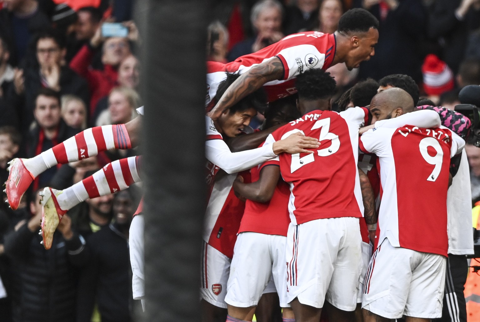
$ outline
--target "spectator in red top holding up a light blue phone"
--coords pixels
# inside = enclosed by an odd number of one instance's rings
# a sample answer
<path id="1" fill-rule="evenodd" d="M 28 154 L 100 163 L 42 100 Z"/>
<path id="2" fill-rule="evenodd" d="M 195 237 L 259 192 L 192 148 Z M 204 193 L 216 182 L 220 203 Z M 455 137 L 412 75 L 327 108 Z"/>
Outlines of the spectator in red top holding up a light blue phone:
<path id="1" fill-rule="evenodd" d="M 138 31 L 133 22 L 126 23 L 129 28 L 127 38 L 111 37 L 104 39 L 101 26 L 98 27 L 90 43 L 84 45 L 70 62 L 70 68 L 88 81 L 91 92 L 90 115 L 95 114 L 98 100 L 117 86 L 118 68 L 123 59 L 131 55 L 128 40 L 137 40 Z M 103 45 L 102 45 L 103 43 Z M 102 63 L 104 69 L 89 68 L 96 50 L 102 45 Z"/>

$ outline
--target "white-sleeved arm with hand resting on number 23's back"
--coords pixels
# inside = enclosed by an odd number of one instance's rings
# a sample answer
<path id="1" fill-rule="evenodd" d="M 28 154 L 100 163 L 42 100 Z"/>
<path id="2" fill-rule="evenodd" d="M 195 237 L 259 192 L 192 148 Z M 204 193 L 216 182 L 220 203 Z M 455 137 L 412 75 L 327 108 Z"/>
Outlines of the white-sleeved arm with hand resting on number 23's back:
<path id="1" fill-rule="evenodd" d="M 317 149 L 319 146 L 318 139 L 305 137 L 301 133 L 292 134 L 288 138 L 274 142 L 273 145 L 264 145 L 257 149 L 241 152 L 232 152 L 224 140 L 213 139 L 205 142 L 205 156 L 208 161 L 231 174 L 251 169 L 283 152 L 290 154 L 313 153 L 313 151 L 305 149 Z"/>

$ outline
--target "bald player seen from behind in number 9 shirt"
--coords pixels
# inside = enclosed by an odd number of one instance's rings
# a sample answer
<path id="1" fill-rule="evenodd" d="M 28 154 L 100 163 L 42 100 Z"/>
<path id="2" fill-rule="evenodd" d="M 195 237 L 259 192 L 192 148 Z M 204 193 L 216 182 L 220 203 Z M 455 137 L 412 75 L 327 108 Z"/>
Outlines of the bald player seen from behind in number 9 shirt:
<path id="1" fill-rule="evenodd" d="M 403 113 L 414 108 L 411 96 L 394 88 L 375 95 L 370 108 L 389 115 L 397 114 L 399 105 Z M 441 316 L 450 158 L 464 144 L 446 127 L 376 127 L 361 136 L 361 150 L 379 158 L 383 191 L 378 247 L 363 290 L 365 321 L 402 315 L 406 321 L 428 321 Z"/>

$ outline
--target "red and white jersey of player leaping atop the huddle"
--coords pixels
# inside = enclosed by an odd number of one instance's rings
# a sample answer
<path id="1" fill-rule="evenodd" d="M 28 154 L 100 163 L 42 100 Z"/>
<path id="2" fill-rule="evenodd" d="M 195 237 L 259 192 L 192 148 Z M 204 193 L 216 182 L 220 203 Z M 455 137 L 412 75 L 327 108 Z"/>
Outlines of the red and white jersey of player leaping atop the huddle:
<path id="1" fill-rule="evenodd" d="M 205 105 L 215 97 L 218 84 L 225 80 L 225 72 L 240 72 L 251 69 L 265 60 L 278 57 L 285 73 L 278 81 L 269 81 L 264 85 L 269 102 L 297 92 L 295 78 L 304 70 L 312 68 L 327 69 L 332 65 L 336 51 L 334 34 L 308 31 L 290 34 L 280 41 L 255 53 L 241 56 L 227 64 L 207 62 L 207 97 Z"/>

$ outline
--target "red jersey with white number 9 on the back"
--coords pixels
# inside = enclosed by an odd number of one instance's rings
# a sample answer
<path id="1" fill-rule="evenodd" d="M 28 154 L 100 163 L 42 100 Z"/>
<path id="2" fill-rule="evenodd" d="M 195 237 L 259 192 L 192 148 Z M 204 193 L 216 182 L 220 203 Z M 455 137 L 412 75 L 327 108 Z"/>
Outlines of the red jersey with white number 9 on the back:
<path id="1" fill-rule="evenodd" d="M 380 127 L 360 137 L 360 149 L 379 158 L 377 243 L 388 238 L 395 247 L 447 255 L 450 158 L 464 145 L 446 127 Z"/>

